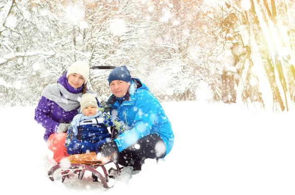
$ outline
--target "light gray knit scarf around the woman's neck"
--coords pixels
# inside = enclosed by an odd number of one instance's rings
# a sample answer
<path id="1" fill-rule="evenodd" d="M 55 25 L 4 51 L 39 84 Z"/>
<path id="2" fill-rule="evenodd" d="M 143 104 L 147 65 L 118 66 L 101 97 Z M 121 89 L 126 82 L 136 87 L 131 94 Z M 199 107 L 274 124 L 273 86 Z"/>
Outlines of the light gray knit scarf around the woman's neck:
<path id="1" fill-rule="evenodd" d="M 96 94 L 93 90 L 88 90 L 87 93 Z M 66 90 L 61 84 L 49 84 L 42 92 L 42 96 L 57 103 L 64 111 L 72 111 L 80 106 L 78 98 L 83 93 L 71 93 Z"/>

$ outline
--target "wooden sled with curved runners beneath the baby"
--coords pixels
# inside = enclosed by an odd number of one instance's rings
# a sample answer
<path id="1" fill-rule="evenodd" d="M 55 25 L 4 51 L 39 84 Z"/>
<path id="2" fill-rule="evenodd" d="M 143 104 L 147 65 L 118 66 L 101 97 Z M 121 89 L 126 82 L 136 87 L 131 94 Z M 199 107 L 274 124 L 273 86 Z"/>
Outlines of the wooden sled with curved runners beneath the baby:
<path id="1" fill-rule="evenodd" d="M 67 157 L 63 160 L 63 163 L 59 163 L 51 167 L 48 171 L 48 176 L 51 181 L 54 181 L 54 176 L 57 175 L 56 171 L 60 170 L 59 176 L 62 176 L 61 182 L 64 181 L 70 173 L 76 173 L 79 179 L 83 178 L 83 175 L 86 170 L 92 173 L 93 179 L 99 180 L 104 188 L 110 188 L 108 185 L 109 178 L 114 178 L 120 173 L 120 167 L 118 163 L 115 163 L 111 160 L 111 156 L 97 158 L 95 152 L 90 152 L 86 154 L 75 154 Z M 109 170 L 106 169 L 105 165 L 113 163 L 116 168 L 111 167 Z M 101 167 L 104 175 L 96 170 L 97 167 Z M 58 171 L 59 172 L 59 171 Z M 110 175 L 112 173 L 112 175 Z"/>

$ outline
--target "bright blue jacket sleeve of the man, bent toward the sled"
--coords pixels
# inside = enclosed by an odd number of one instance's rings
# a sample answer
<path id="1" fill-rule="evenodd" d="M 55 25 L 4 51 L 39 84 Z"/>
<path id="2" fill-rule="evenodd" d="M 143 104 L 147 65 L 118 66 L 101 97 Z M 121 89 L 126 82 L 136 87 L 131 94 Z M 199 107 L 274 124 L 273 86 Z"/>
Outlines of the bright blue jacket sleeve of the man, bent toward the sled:
<path id="1" fill-rule="evenodd" d="M 128 125 L 133 128 L 119 135 L 117 139 L 114 139 L 117 143 L 119 152 L 132 145 L 138 139 L 150 134 L 151 127 L 159 110 L 158 106 L 158 100 L 148 91 L 137 91 L 137 97 L 134 105 L 137 111 L 133 112 L 134 120 L 129 121 L 132 124 L 130 125 L 128 123 Z"/>

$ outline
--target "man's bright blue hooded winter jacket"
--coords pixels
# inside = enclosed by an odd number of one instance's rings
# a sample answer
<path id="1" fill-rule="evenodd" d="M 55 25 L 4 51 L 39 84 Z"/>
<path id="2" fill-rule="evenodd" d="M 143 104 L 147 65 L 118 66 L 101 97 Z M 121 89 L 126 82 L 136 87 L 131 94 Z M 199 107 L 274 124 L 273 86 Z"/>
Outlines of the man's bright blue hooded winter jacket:
<path id="1" fill-rule="evenodd" d="M 149 92 L 148 86 L 137 78 L 132 78 L 129 87 L 130 97 L 126 97 L 121 104 L 113 95 L 108 103 L 112 107 L 111 114 L 117 115 L 131 129 L 118 136 L 114 141 L 121 152 L 128 146 L 150 134 L 158 134 L 166 145 L 166 155 L 174 144 L 174 134 L 171 123 L 167 118 L 157 98 Z M 166 156 L 165 155 L 165 156 Z"/>

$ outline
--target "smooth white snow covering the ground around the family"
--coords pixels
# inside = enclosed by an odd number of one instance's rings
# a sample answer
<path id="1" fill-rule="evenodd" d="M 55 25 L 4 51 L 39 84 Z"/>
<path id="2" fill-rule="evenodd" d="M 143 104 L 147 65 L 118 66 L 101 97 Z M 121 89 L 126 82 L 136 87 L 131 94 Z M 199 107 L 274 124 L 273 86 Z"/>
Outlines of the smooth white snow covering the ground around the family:
<path id="1" fill-rule="evenodd" d="M 239 104 L 205 101 L 162 103 L 175 144 L 158 164 L 129 167 L 104 189 L 90 175 L 52 182 L 51 152 L 34 107 L 0 108 L 3 192 L 42 195 L 294 195 L 294 112 L 247 110 Z M 49 159 L 47 159 L 49 158 Z M 86 195 L 86 194 L 85 194 Z"/>

